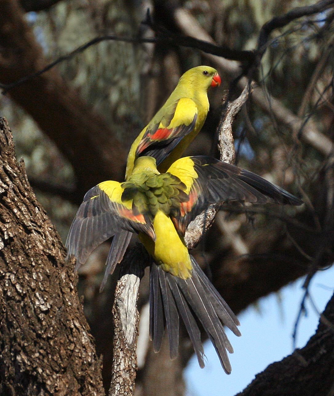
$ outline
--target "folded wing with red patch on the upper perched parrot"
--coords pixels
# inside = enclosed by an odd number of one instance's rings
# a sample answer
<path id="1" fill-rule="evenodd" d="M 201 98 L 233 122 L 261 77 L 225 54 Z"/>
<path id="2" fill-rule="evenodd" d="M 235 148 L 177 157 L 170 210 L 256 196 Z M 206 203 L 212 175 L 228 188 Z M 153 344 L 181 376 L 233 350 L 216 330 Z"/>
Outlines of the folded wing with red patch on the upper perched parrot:
<path id="1" fill-rule="evenodd" d="M 181 98 L 163 106 L 148 124 L 139 142 L 136 156 L 151 156 L 159 165 L 176 145 L 195 128 L 197 106 L 192 99 Z"/>

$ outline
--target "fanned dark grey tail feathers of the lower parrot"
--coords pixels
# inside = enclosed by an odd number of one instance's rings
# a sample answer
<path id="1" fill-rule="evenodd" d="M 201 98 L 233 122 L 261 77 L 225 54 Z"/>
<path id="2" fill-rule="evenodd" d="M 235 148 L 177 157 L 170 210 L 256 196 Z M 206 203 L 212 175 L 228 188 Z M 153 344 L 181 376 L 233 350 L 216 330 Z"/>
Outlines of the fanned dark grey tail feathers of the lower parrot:
<path id="1" fill-rule="evenodd" d="M 227 351 L 232 353 L 233 348 L 226 336 L 224 326 L 229 327 L 235 335 L 239 336 L 241 335 L 237 328 L 239 320 L 194 258 L 191 257 L 191 259 L 192 276 L 186 280 L 165 272 L 154 263 L 151 265 L 150 338 L 153 339 L 154 350 L 160 349 L 166 323 L 170 354 L 172 358 L 176 357 L 180 315 L 194 346 L 199 366 L 204 367 L 201 333 L 195 315 L 211 339 L 223 369 L 226 373 L 230 373 L 231 365 Z"/>

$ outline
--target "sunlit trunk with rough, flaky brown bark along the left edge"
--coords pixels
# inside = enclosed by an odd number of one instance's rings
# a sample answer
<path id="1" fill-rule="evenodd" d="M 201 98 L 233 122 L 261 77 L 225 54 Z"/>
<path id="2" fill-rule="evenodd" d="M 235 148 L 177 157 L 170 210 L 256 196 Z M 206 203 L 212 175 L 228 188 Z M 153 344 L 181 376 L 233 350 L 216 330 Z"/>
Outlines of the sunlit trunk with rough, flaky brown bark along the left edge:
<path id="1" fill-rule="evenodd" d="M 104 395 L 74 263 L 0 119 L 0 394 Z"/>

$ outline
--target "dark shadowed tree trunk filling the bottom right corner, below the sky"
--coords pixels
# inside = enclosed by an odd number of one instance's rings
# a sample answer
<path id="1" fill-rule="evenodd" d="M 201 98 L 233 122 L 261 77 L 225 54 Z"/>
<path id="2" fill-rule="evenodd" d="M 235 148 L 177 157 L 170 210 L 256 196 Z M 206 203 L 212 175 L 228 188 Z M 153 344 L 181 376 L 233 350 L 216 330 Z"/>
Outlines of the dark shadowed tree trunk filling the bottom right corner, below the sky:
<path id="1" fill-rule="evenodd" d="M 334 295 L 318 329 L 302 349 L 270 364 L 238 396 L 332 396 L 334 394 Z"/>

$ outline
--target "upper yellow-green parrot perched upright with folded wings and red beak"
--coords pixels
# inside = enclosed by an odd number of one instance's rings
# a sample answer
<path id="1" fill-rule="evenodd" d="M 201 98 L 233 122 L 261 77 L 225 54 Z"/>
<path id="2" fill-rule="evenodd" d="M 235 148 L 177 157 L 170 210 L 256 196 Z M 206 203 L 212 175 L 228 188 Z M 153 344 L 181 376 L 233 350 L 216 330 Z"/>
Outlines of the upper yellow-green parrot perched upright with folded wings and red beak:
<path id="1" fill-rule="evenodd" d="M 125 179 L 139 156 L 156 158 L 159 171 L 165 172 L 184 152 L 201 130 L 209 111 L 207 91 L 219 86 L 216 69 L 197 66 L 186 71 L 166 103 L 140 132 L 127 157 Z M 131 233 L 116 233 L 107 263 L 114 267 L 120 263 L 131 240 Z"/>

